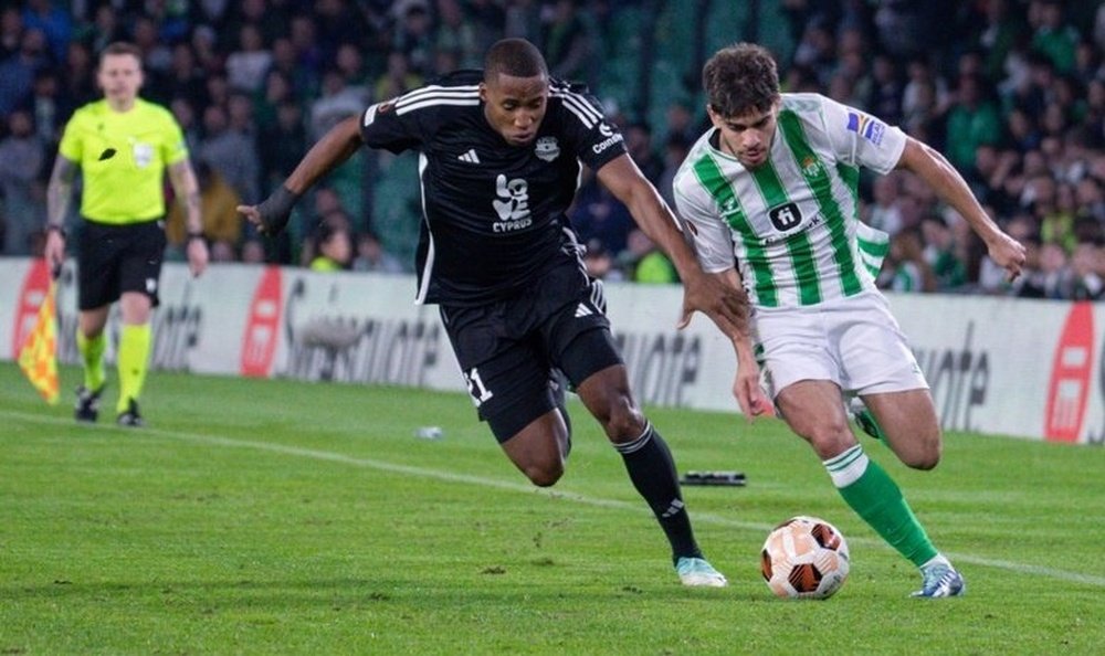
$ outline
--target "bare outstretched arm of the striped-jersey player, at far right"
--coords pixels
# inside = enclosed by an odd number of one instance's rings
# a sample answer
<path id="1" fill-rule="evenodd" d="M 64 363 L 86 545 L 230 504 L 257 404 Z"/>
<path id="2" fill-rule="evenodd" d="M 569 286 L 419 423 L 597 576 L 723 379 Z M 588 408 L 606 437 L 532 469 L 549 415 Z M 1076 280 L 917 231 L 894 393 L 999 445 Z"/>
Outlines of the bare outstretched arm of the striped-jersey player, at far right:
<path id="1" fill-rule="evenodd" d="M 1024 264 L 1024 246 L 1006 234 L 987 215 L 967 181 L 943 155 L 913 137 L 906 137 L 905 149 L 896 168 L 916 174 L 940 200 L 959 212 L 986 243 L 990 257 L 1008 272 L 1010 281 L 1020 275 Z"/>

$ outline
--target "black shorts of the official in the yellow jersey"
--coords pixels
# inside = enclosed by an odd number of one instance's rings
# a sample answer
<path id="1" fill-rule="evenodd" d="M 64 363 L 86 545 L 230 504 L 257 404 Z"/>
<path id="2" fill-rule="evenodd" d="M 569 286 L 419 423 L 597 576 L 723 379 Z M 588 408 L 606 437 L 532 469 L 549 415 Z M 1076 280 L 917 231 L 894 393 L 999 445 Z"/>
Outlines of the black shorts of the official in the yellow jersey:
<path id="1" fill-rule="evenodd" d="M 103 307 L 124 292 L 146 294 L 157 307 L 165 243 L 161 221 L 110 225 L 85 220 L 77 236 L 77 307 Z"/>

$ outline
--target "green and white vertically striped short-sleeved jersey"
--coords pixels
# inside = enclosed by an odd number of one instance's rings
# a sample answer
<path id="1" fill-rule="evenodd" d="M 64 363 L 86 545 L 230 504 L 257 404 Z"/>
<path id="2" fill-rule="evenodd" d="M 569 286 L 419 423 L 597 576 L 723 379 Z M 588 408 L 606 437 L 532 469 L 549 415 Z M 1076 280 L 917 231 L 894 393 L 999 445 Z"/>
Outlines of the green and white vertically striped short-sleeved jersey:
<path id="1" fill-rule="evenodd" d="M 888 239 L 859 219 L 860 167 L 888 173 L 905 134 L 820 94 L 783 94 L 768 160 L 746 169 L 712 128 L 674 180 L 703 269 L 734 266 L 755 305 L 797 307 L 873 289 Z"/>

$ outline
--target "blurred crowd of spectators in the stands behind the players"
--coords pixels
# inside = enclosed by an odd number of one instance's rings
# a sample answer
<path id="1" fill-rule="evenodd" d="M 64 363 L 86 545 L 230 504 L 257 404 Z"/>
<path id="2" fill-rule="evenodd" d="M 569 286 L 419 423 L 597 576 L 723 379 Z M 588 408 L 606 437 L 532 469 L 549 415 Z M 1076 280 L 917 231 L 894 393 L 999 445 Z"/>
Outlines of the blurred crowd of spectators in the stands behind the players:
<path id="1" fill-rule="evenodd" d="M 116 40 L 145 53 L 143 96 L 185 130 L 215 262 L 317 271 L 410 271 L 419 211 L 409 156 L 361 150 L 304 199 L 292 230 L 263 240 L 234 212 L 291 172 L 336 121 L 524 36 L 552 74 L 604 100 L 645 176 L 671 180 L 705 129 L 694 62 L 661 112 L 608 91 L 628 50 L 622 17 L 724 11 L 646 0 L 27 0 L 0 14 L 3 253 L 35 254 L 45 184 L 65 121 L 99 97 L 96 57 Z M 946 154 L 993 218 L 1029 246 L 1013 284 L 965 222 L 905 173 L 861 179 L 863 219 L 892 236 L 878 284 L 913 292 L 1095 299 L 1105 294 L 1105 7 L 1060 0 L 760 0 L 778 31 L 788 92 L 865 109 Z M 767 11 L 774 9 L 775 11 Z M 643 24 L 655 27 L 655 22 Z M 775 32 L 771 32 L 775 34 Z M 698 34 L 701 40 L 705 34 Z M 728 41 L 748 38 L 734 34 Z M 774 39 L 779 42 L 779 39 Z M 727 42 L 709 43 L 706 56 Z M 691 44 L 686 47 L 690 50 Z M 778 50 L 778 49 L 777 49 Z M 657 56 L 648 49 L 633 57 Z M 643 66 L 643 71 L 651 67 Z M 650 117 L 662 116 L 657 121 Z M 406 159 L 404 159 L 406 158 Z M 167 193 L 169 191 L 167 190 Z M 673 204 L 674 203 L 671 203 Z M 597 276 L 676 282 L 628 210 L 585 176 L 571 220 Z M 169 257 L 185 242 L 170 212 Z"/>

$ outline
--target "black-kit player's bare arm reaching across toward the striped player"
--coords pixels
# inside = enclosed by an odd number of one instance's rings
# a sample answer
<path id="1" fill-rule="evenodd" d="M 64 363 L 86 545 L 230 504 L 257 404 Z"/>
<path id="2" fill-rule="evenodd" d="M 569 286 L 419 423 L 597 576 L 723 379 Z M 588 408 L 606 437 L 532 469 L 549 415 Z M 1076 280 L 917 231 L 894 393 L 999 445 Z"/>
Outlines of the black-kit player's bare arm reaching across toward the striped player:
<path id="1" fill-rule="evenodd" d="M 748 297 L 739 287 L 727 285 L 703 272 L 691 246 L 683 239 L 675 215 L 660 192 L 636 168 L 629 155 L 620 155 L 599 168 L 599 181 L 620 200 L 649 239 L 671 258 L 683 282 L 683 315 L 678 327 L 691 322 L 695 310 L 705 313 L 730 339 L 747 335 Z"/>

